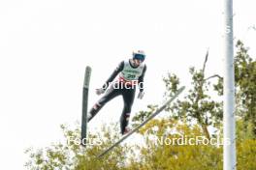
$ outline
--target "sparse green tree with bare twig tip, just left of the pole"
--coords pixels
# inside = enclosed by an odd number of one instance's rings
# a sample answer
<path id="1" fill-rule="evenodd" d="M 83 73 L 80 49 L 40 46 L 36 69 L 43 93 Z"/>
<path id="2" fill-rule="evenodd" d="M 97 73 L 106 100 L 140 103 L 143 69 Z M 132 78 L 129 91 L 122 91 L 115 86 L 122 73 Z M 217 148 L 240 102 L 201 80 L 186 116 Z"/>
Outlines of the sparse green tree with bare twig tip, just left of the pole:
<path id="1" fill-rule="evenodd" d="M 195 68 L 190 68 L 191 74 L 191 89 L 185 95 L 184 99 L 177 101 L 167 108 L 171 119 L 183 121 L 184 123 L 197 122 L 204 130 L 205 135 L 210 138 L 208 126 L 219 127 L 222 120 L 222 103 L 211 99 L 208 91 L 210 89 L 210 79 L 214 77 L 221 78 L 219 75 L 211 75 L 206 77 L 206 65 L 208 61 L 208 53 L 203 65 L 203 69 L 197 71 Z M 166 86 L 166 98 L 173 96 L 179 86 L 179 78 L 176 74 L 168 73 L 167 77 L 163 78 Z M 211 92 L 212 93 L 212 92 Z M 149 105 L 150 113 L 152 113 L 156 105 Z M 148 114 L 140 112 L 134 118 L 134 121 L 143 121 Z"/>

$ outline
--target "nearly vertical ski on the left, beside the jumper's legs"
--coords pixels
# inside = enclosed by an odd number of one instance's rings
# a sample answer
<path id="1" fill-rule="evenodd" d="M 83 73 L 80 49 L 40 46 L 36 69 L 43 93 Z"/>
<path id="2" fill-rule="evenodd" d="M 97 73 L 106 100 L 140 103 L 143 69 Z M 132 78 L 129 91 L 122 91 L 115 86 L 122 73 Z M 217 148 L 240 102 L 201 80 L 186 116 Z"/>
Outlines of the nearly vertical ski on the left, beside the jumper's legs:
<path id="1" fill-rule="evenodd" d="M 87 137 L 87 105 L 88 105 L 88 92 L 90 83 L 91 68 L 87 66 L 85 68 L 83 87 L 82 87 L 82 113 L 81 113 L 81 131 L 80 139 L 81 145 L 86 146 Z"/>

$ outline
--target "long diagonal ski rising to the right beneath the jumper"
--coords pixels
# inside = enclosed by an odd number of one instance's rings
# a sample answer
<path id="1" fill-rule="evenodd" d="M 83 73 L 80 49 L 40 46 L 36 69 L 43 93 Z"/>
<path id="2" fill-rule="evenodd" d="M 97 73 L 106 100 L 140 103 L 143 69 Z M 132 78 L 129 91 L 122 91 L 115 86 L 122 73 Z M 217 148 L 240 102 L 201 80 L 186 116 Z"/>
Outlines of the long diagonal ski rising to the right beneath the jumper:
<path id="1" fill-rule="evenodd" d="M 98 157 L 105 156 L 108 154 L 114 147 L 116 147 L 118 144 L 120 144 L 122 141 L 124 141 L 127 137 L 129 137 L 131 134 L 136 132 L 139 128 L 142 128 L 148 121 L 150 121 L 152 118 L 154 118 L 156 115 L 158 115 L 160 112 L 162 112 L 174 99 L 178 97 L 179 94 L 185 89 L 185 86 L 182 86 L 176 91 L 176 94 L 171 98 L 168 99 L 161 107 L 159 107 L 154 113 L 152 113 L 142 124 L 137 126 L 136 128 L 129 131 L 127 134 L 123 135 L 117 142 L 115 142 L 110 148 L 105 150 L 103 153 L 98 155 Z"/>

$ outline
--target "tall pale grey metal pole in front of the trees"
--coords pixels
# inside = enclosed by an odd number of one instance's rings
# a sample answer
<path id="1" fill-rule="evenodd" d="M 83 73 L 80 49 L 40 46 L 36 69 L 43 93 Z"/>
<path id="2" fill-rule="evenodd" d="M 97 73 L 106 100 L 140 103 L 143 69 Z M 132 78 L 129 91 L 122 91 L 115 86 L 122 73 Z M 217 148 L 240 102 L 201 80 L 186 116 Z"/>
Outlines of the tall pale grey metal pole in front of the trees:
<path id="1" fill-rule="evenodd" d="M 235 75 L 233 42 L 233 0 L 224 0 L 224 150 L 223 169 L 236 170 Z"/>

